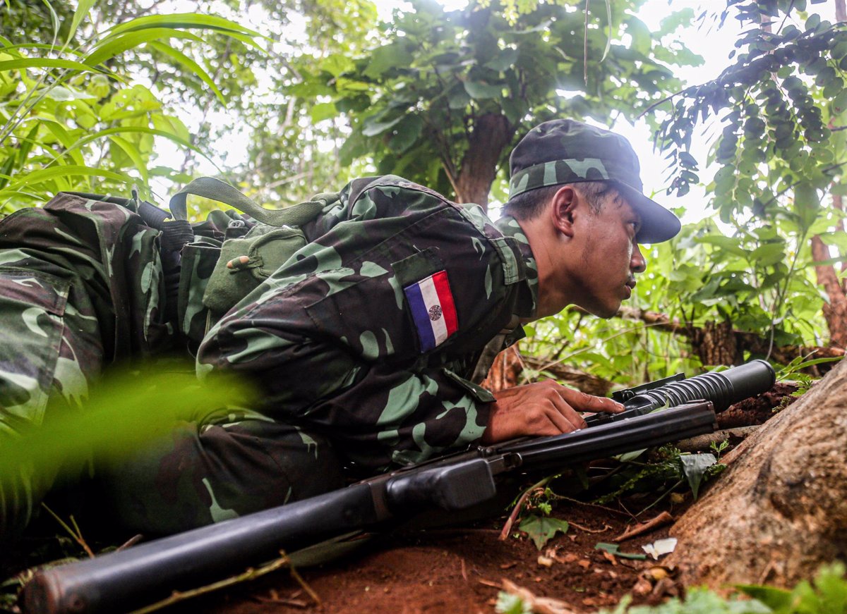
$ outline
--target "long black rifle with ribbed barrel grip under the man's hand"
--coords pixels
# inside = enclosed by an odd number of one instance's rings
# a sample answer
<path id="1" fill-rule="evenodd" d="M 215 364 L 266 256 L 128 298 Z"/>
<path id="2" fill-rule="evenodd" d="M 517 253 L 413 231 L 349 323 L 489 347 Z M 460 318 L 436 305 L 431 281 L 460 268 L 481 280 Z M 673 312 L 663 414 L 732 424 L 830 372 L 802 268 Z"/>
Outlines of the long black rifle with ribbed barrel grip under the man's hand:
<path id="1" fill-rule="evenodd" d="M 561 469 L 712 432 L 716 410 L 769 390 L 775 379 L 771 365 L 754 360 L 721 373 L 687 380 L 673 376 L 618 392 L 626 410 L 592 416 L 586 420 L 590 428 L 474 447 L 300 502 L 36 573 L 24 588 L 24 609 L 127 611 L 173 590 L 226 578 L 280 551 L 351 531 L 390 528 L 428 509 L 466 510 L 495 497 L 497 476 Z"/>

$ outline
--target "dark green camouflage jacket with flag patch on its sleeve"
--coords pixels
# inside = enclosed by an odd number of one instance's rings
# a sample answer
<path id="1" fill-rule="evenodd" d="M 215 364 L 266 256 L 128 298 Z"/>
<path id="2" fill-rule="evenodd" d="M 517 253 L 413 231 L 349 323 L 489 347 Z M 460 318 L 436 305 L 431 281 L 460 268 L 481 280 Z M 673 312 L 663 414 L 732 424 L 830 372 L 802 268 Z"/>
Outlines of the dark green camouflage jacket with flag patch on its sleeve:
<path id="1" fill-rule="evenodd" d="M 264 416 L 329 436 L 367 469 L 478 441 L 494 397 L 472 380 L 535 309 L 518 222 L 386 176 L 352 181 L 304 232 L 310 243 L 208 332 L 198 371 L 250 374 Z"/>

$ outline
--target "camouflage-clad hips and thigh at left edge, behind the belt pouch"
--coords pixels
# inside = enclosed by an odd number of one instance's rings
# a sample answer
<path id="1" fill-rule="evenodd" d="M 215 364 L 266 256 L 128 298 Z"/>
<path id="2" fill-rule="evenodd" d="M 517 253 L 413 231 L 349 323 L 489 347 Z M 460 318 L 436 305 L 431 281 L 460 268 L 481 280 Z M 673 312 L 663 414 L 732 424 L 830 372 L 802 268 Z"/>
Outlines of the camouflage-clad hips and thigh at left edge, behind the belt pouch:
<path id="1" fill-rule="evenodd" d="M 79 411 L 105 365 L 169 337 L 158 231 L 125 207 L 61 194 L 0 222 L 0 437 Z M 59 471 L 0 484 L 0 536 L 29 522 Z"/>

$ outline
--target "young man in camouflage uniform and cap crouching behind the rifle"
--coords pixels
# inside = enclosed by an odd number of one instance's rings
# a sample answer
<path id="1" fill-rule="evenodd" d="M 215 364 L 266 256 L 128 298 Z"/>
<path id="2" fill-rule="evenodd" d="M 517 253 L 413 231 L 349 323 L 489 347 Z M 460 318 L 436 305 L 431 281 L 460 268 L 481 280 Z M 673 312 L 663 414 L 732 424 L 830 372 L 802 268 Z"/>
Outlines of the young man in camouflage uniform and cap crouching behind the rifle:
<path id="1" fill-rule="evenodd" d="M 568 304 L 613 315 L 645 269 L 638 243 L 672 238 L 678 219 L 641 194 L 627 140 L 584 123 L 532 129 L 512 152 L 511 176 L 496 222 L 478 206 L 401 178 L 348 184 L 340 201 L 302 227 L 309 243 L 199 348 L 198 374 L 243 374 L 262 391 L 261 406 L 176 424 L 125 462 L 98 469 L 98 501 L 110 502 L 113 518 L 128 528 L 173 533 L 313 496 L 351 474 L 478 442 L 578 429 L 580 411 L 620 411 L 611 399 L 553 382 L 492 394 L 479 381 L 494 356 L 523 336 L 522 323 Z M 4 332 L 8 348 L 19 351 L 0 361 L 0 384 L 8 383 L 0 386 L 0 431 L 38 424 L 51 391 L 76 408 L 103 363 L 161 345 L 156 233 L 129 213 L 74 199 L 53 206 L 61 222 L 80 220 L 79 228 L 62 227 L 66 248 L 47 249 L 56 237 L 42 210 L 18 216 L 34 228 L 33 241 L 44 242 L 42 251 L 0 243 L 0 277 L 29 293 L 5 300 L 43 304 Z M 74 243 L 89 235 L 88 244 Z M 122 249 L 97 247 L 107 239 Z M 102 261 L 106 253 L 127 262 L 127 271 L 147 263 L 149 274 L 138 277 L 147 285 L 117 287 L 122 271 Z M 36 269 L 42 272 L 33 277 Z M 110 311 L 116 296 L 126 304 Z M 138 321 L 119 316 L 127 313 Z M 49 351 L 48 323 L 55 333 Z M 21 357 L 26 365 L 15 364 Z M 23 476 L 0 488 L 0 535 L 28 521 L 51 480 Z"/>

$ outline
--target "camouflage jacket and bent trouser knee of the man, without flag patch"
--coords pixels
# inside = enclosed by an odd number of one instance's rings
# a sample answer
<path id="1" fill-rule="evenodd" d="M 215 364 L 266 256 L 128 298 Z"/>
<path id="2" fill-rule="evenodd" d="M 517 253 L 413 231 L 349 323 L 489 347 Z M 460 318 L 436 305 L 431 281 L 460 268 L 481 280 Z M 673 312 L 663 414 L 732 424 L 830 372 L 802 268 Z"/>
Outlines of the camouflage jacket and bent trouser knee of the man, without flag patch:
<path id="1" fill-rule="evenodd" d="M 482 436 L 494 397 L 472 380 L 534 313 L 537 273 L 518 223 L 389 176 L 348 184 L 303 230 L 310 243 L 197 357 L 201 374 L 246 372 L 262 407 L 180 427 L 115 472 L 110 497 L 133 529 L 280 505 L 342 485 L 342 464 L 370 474 Z M 440 271 L 457 328 L 427 349 L 407 288 Z"/>

